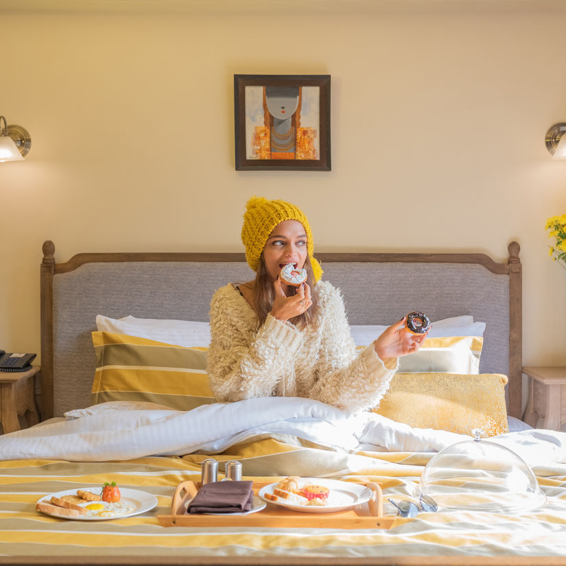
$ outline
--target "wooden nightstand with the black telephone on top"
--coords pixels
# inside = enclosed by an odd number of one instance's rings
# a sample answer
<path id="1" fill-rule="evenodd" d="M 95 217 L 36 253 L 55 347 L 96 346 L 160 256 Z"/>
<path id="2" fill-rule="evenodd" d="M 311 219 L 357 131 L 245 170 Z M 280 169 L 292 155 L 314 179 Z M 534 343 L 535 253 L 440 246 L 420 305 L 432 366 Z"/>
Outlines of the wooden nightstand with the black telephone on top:
<path id="1" fill-rule="evenodd" d="M 21 429 L 18 415 L 24 417 L 28 427 L 39 422 L 34 388 L 38 372 L 38 366 L 21 372 L 0 371 L 0 423 L 4 434 Z"/>

